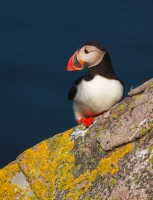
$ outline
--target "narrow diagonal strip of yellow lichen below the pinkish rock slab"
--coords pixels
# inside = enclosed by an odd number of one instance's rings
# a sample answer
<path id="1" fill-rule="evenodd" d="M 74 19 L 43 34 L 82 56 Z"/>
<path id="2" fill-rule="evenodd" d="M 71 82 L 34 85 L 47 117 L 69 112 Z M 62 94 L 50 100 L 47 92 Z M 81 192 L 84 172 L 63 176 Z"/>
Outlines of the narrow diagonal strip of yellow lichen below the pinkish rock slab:
<path id="1" fill-rule="evenodd" d="M 93 171 L 86 171 L 84 174 L 73 180 L 70 186 L 70 191 L 66 195 L 66 199 L 77 200 L 83 193 L 88 191 L 92 182 L 98 175 L 113 175 L 118 172 L 118 161 L 132 150 L 132 144 L 127 144 L 116 151 L 112 152 L 107 158 L 103 158 L 99 165 Z M 83 184 L 85 182 L 85 184 Z"/>

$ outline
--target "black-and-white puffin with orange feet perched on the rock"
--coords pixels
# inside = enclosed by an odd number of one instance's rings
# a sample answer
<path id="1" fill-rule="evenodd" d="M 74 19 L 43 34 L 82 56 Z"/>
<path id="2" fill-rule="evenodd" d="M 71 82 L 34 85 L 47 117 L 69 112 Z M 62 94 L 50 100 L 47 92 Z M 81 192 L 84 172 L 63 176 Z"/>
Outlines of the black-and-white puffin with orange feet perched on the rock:
<path id="1" fill-rule="evenodd" d="M 68 92 L 73 101 L 78 124 L 89 127 L 97 115 L 103 114 L 121 100 L 124 84 L 116 76 L 108 51 L 97 42 L 83 44 L 71 56 L 67 71 L 87 69 Z"/>

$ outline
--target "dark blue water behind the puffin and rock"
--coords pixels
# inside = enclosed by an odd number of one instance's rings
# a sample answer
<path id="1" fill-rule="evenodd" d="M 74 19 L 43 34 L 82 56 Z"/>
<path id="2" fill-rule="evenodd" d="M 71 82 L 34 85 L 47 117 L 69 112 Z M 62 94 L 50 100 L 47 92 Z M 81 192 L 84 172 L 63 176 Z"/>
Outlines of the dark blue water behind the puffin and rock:
<path id="1" fill-rule="evenodd" d="M 71 54 L 96 40 L 126 92 L 153 76 L 153 2 L 0 1 L 0 167 L 73 127 Z"/>

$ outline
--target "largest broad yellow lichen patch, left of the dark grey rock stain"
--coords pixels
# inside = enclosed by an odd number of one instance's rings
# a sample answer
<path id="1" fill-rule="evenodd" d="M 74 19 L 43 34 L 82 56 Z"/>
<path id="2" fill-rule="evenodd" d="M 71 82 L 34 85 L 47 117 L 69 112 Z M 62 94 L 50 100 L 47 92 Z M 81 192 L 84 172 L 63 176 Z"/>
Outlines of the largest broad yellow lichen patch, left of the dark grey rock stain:
<path id="1" fill-rule="evenodd" d="M 53 137 L 50 144 L 43 141 L 24 152 L 20 166 L 32 182 L 38 198 L 54 199 L 56 186 L 59 190 L 70 188 L 74 167 L 71 153 L 74 141 L 69 138 L 71 132 L 72 129 Z"/>

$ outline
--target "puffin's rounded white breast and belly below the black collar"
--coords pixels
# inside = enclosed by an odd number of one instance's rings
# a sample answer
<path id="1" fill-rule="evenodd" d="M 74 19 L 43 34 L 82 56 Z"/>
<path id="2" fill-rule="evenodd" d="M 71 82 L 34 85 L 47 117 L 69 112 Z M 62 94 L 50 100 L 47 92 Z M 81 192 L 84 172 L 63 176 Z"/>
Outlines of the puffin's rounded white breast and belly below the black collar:
<path id="1" fill-rule="evenodd" d="M 83 115 L 92 116 L 110 109 L 122 95 L 120 81 L 96 75 L 93 80 L 82 80 L 78 85 L 74 104 Z"/>

